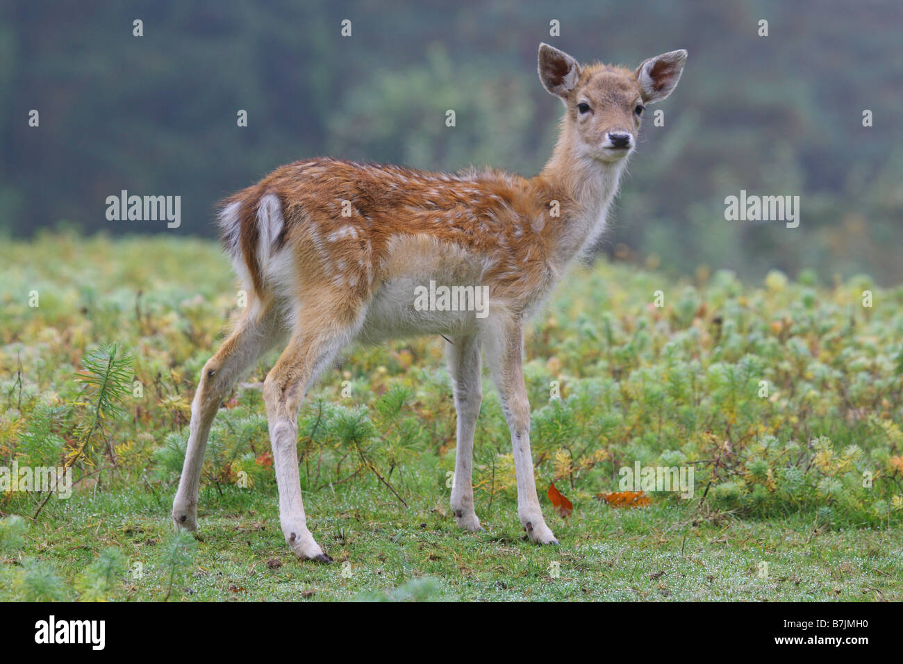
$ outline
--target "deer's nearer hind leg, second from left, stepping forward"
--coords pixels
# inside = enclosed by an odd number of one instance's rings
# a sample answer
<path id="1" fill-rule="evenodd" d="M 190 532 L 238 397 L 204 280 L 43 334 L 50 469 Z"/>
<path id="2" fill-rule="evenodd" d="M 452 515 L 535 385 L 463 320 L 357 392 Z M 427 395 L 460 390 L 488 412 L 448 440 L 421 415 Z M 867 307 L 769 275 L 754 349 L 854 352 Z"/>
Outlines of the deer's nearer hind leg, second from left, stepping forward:
<path id="1" fill-rule="evenodd" d="M 285 541 L 299 558 L 331 562 L 307 528 L 298 472 L 298 411 L 308 388 L 360 328 L 359 316 L 335 307 L 336 298 L 309 296 L 312 307 L 302 307 L 301 322 L 264 383 L 266 416 L 276 482 L 279 521 Z M 316 304 L 314 304 L 316 303 Z"/>

